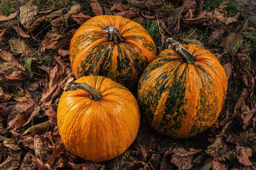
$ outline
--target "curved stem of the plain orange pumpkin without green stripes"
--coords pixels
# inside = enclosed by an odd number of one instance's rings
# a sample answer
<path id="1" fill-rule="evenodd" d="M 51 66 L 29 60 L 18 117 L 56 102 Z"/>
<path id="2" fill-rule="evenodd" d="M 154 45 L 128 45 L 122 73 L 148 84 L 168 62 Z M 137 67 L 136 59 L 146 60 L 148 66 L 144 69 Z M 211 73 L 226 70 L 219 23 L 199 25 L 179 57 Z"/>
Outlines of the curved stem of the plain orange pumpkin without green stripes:
<path id="1" fill-rule="evenodd" d="M 64 89 L 64 91 L 76 91 L 78 88 L 89 93 L 89 96 L 91 97 L 91 99 L 93 99 L 95 101 L 98 101 L 102 98 L 101 93 L 98 92 L 92 86 L 89 86 L 88 84 L 74 82 L 74 77 L 70 77 L 67 80 L 67 83 L 65 84 L 63 89 Z"/>

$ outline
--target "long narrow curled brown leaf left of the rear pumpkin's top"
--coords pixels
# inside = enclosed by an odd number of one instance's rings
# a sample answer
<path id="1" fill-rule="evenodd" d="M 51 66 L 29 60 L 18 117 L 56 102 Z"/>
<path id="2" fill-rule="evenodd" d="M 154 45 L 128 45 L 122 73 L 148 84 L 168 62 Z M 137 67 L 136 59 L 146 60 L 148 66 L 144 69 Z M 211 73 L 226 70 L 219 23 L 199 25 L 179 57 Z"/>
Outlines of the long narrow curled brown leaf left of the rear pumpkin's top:
<path id="1" fill-rule="evenodd" d="M 46 20 L 53 20 L 54 18 L 60 17 L 63 13 L 64 9 L 54 11 L 49 15 L 45 15 L 42 18 L 37 18 L 36 21 L 27 29 L 27 32 L 34 31 L 40 24 L 45 22 Z"/>

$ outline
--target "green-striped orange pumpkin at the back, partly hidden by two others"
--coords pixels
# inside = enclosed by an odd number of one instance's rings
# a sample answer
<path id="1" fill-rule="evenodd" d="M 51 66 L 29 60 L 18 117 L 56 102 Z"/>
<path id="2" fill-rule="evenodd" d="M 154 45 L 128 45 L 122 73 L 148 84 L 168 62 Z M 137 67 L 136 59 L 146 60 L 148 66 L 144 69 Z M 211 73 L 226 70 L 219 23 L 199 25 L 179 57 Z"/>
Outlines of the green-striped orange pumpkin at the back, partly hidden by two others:
<path id="1" fill-rule="evenodd" d="M 133 90 L 155 58 L 155 50 L 152 38 L 140 24 L 121 16 L 99 15 L 74 34 L 70 62 L 76 79 L 101 75 Z"/>

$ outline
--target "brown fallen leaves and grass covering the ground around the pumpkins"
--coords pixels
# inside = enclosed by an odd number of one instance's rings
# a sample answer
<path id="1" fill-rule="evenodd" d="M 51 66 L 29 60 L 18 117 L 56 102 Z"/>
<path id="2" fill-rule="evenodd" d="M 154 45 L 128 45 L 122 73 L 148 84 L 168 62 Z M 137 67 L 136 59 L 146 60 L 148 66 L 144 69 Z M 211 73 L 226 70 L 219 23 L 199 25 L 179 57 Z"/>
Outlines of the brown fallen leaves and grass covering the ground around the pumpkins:
<path id="1" fill-rule="evenodd" d="M 0 169 L 255 170 L 255 7 L 253 0 L 2 0 Z M 73 76 L 70 40 L 81 24 L 103 14 L 139 22 L 157 54 L 172 37 L 216 55 L 229 85 L 209 130 L 173 139 L 150 129 L 142 117 L 134 143 L 116 159 L 87 162 L 65 149 L 56 108 Z"/>

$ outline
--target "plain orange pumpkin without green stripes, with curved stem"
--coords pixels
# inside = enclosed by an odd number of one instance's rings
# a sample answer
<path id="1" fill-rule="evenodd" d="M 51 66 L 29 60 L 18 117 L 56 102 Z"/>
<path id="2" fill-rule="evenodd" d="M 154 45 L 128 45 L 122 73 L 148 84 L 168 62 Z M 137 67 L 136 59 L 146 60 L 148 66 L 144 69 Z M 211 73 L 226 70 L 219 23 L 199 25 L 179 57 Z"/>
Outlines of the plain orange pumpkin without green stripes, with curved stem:
<path id="1" fill-rule="evenodd" d="M 66 84 L 57 109 L 63 144 L 88 161 L 121 155 L 139 130 L 137 100 L 126 87 L 103 76 L 73 79 Z"/>

